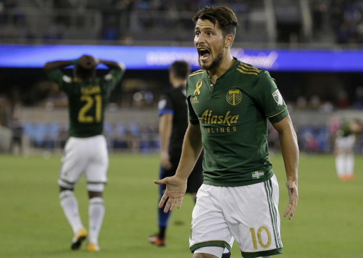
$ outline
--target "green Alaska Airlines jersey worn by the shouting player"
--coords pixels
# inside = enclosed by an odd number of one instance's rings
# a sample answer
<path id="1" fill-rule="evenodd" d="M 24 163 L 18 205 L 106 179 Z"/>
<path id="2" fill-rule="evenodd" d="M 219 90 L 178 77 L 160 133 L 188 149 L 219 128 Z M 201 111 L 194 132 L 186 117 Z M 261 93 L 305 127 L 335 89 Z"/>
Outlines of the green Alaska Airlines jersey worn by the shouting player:
<path id="1" fill-rule="evenodd" d="M 239 60 L 213 84 L 205 70 L 187 80 L 189 121 L 200 124 L 204 183 L 245 186 L 273 175 L 267 146 L 267 120 L 288 111 L 275 80 Z"/>

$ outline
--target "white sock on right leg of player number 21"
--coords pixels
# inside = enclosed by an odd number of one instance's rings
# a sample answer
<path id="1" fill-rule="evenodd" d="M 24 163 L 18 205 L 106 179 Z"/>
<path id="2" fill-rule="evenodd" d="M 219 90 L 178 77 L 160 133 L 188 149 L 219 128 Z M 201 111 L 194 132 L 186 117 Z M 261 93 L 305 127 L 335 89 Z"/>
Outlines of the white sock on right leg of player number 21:
<path id="1" fill-rule="evenodd" d="M 102 197 L 93 197 L 89 200 L 89 235 L 88 242 L 98 244 L 98 234 L 101 229 L 103 216 L 105 215 L 105 206 L 103 206 Z"/>

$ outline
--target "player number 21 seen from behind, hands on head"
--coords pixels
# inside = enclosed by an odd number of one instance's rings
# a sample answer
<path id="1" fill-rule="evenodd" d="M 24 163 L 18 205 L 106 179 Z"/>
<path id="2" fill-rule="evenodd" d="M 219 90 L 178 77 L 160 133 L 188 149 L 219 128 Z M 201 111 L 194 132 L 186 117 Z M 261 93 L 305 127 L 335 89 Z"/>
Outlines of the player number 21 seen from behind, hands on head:
<path id="1" fill-rule="evenodd" d="M 98 63 L 111 69 L 103 78 L 95 76 Z M 70 65 L 75 65 L 73 78 L 60 70 Z M 89 195 L 87 250 L 99 251 L 98 234 L 105 214 L 102 192 L 109 164 L 106 139 L 102 135 L 103 115 L 111 91 L 121 80 L 125 68 L 120 63 L 82 55 L 72 61 L 48 62 L 44 69 L 68 96 L 69 139 L 64 147 L 58 184 L 61 206 L 74 233 L 71 248 L 79 249 L 87 237 L 73 194 L 74 184 L 85 173 Z"/>

